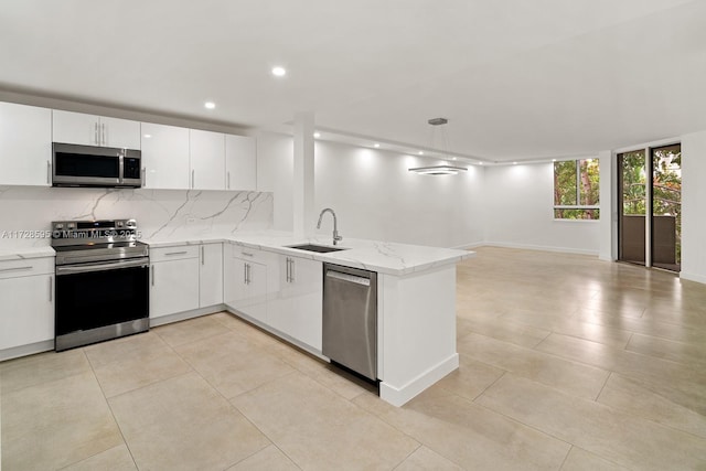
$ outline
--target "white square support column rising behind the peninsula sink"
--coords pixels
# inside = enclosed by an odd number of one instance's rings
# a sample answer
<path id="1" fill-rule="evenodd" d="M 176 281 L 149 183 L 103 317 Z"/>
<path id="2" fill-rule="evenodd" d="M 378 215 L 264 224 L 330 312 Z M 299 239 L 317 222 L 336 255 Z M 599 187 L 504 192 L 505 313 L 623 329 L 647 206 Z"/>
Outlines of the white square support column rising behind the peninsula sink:
<path id="1" fill-rule="evenodd" d="M 314 233 L 313 207 L 313 113 L 295 114 L 295 175 L 292 184 L 296 237 Z"/>

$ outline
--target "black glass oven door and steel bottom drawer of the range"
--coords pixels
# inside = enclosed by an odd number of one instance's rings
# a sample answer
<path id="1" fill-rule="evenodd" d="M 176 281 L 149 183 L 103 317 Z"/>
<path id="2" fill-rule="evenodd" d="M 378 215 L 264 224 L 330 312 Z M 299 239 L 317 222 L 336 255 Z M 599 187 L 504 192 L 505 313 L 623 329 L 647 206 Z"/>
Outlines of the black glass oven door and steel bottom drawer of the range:
<path id="1" fill-rule="evenodd" d="M 149 258 L 56 267 L 56 351 L 149 329 Z"/>

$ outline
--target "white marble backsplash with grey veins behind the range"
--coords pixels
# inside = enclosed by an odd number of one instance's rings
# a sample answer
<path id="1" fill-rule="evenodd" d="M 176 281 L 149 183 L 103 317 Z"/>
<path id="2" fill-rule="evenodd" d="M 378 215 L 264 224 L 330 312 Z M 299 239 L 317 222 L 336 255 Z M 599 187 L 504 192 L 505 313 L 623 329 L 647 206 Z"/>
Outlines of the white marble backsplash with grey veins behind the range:
<path id="1" fill-rule="evenodd" d="M 52 221 L 136 218 L 143 239 L 272 227 L 272 193 L 0 186 L 0 249 L 50 245 Z"/>

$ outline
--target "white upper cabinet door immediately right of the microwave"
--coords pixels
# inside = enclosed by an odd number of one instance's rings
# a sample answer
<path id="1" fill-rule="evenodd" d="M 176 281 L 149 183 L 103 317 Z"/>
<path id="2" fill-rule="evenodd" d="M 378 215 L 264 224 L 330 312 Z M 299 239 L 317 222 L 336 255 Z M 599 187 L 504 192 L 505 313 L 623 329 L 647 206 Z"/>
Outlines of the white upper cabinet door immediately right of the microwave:
<path id="1" fill-rule="evenodd" d="M 188 190 L 189 129 L 142 122 L 145 188 Z"/>

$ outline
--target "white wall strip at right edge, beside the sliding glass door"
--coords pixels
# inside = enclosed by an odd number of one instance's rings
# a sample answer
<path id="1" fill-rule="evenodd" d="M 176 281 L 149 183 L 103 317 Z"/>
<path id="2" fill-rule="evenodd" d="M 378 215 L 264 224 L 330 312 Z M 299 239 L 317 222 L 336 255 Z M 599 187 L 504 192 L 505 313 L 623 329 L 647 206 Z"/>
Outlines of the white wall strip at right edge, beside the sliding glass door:
<path id="1" fill-rule="evenodd" d="M 682 272 L 706 283 L 706 131 L 682 136 Z"/>

